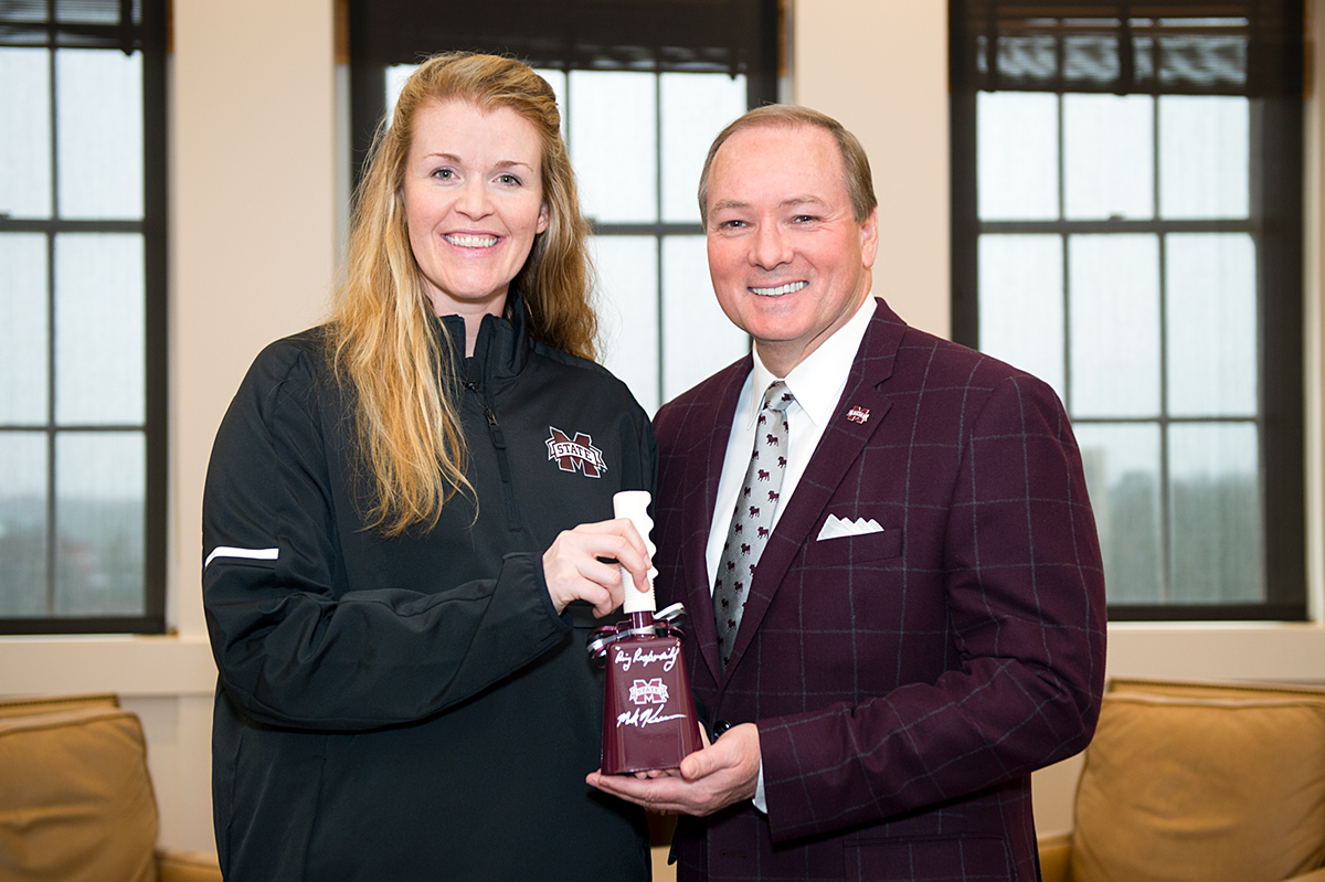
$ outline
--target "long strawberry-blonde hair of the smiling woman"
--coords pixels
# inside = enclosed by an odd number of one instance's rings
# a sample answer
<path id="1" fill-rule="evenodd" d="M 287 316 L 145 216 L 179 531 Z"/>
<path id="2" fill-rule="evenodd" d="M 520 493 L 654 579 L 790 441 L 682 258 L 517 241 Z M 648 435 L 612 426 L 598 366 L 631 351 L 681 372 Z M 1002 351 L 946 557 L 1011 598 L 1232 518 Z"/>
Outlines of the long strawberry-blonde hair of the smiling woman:
<path id="1" fill-rule="evenodd" d="M 465 478 L 454 354 L 448 335 L 433 327 L 437 318 L 409 248 L 403 197 L 415 118 L 424 105 L 447 101 L 509 107 L 538 131 L 549 224 L 513 287 L 523 297 L 535 340 L 595 356 L 588 224 L 551 86 L 511 58 L 433 56 L 405 82 L 391 126 L 383 124 L 374 139 L 356 192 L 346 279 L 329 322 L 335 375 L 354 400 L 354 453 L 367 485 L 359 498 L 371 499 L 363 515 L 388 536 L 413 526 L 432 528 L 458 490 L 473 494 Z"/>

